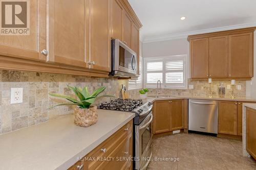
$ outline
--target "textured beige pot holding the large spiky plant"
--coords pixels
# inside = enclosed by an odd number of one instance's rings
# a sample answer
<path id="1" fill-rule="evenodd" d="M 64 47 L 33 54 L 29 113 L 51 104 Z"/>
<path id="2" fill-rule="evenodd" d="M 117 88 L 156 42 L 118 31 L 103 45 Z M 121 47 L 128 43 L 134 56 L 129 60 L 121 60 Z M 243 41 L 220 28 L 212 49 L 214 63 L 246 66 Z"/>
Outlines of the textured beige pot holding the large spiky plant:
<path id="1" fill-rule="evenodd" d="M 75 108 L 74 123 L 78 126 L 89 127 L 98 121 L 97 106 L 88 109 Z"/>

